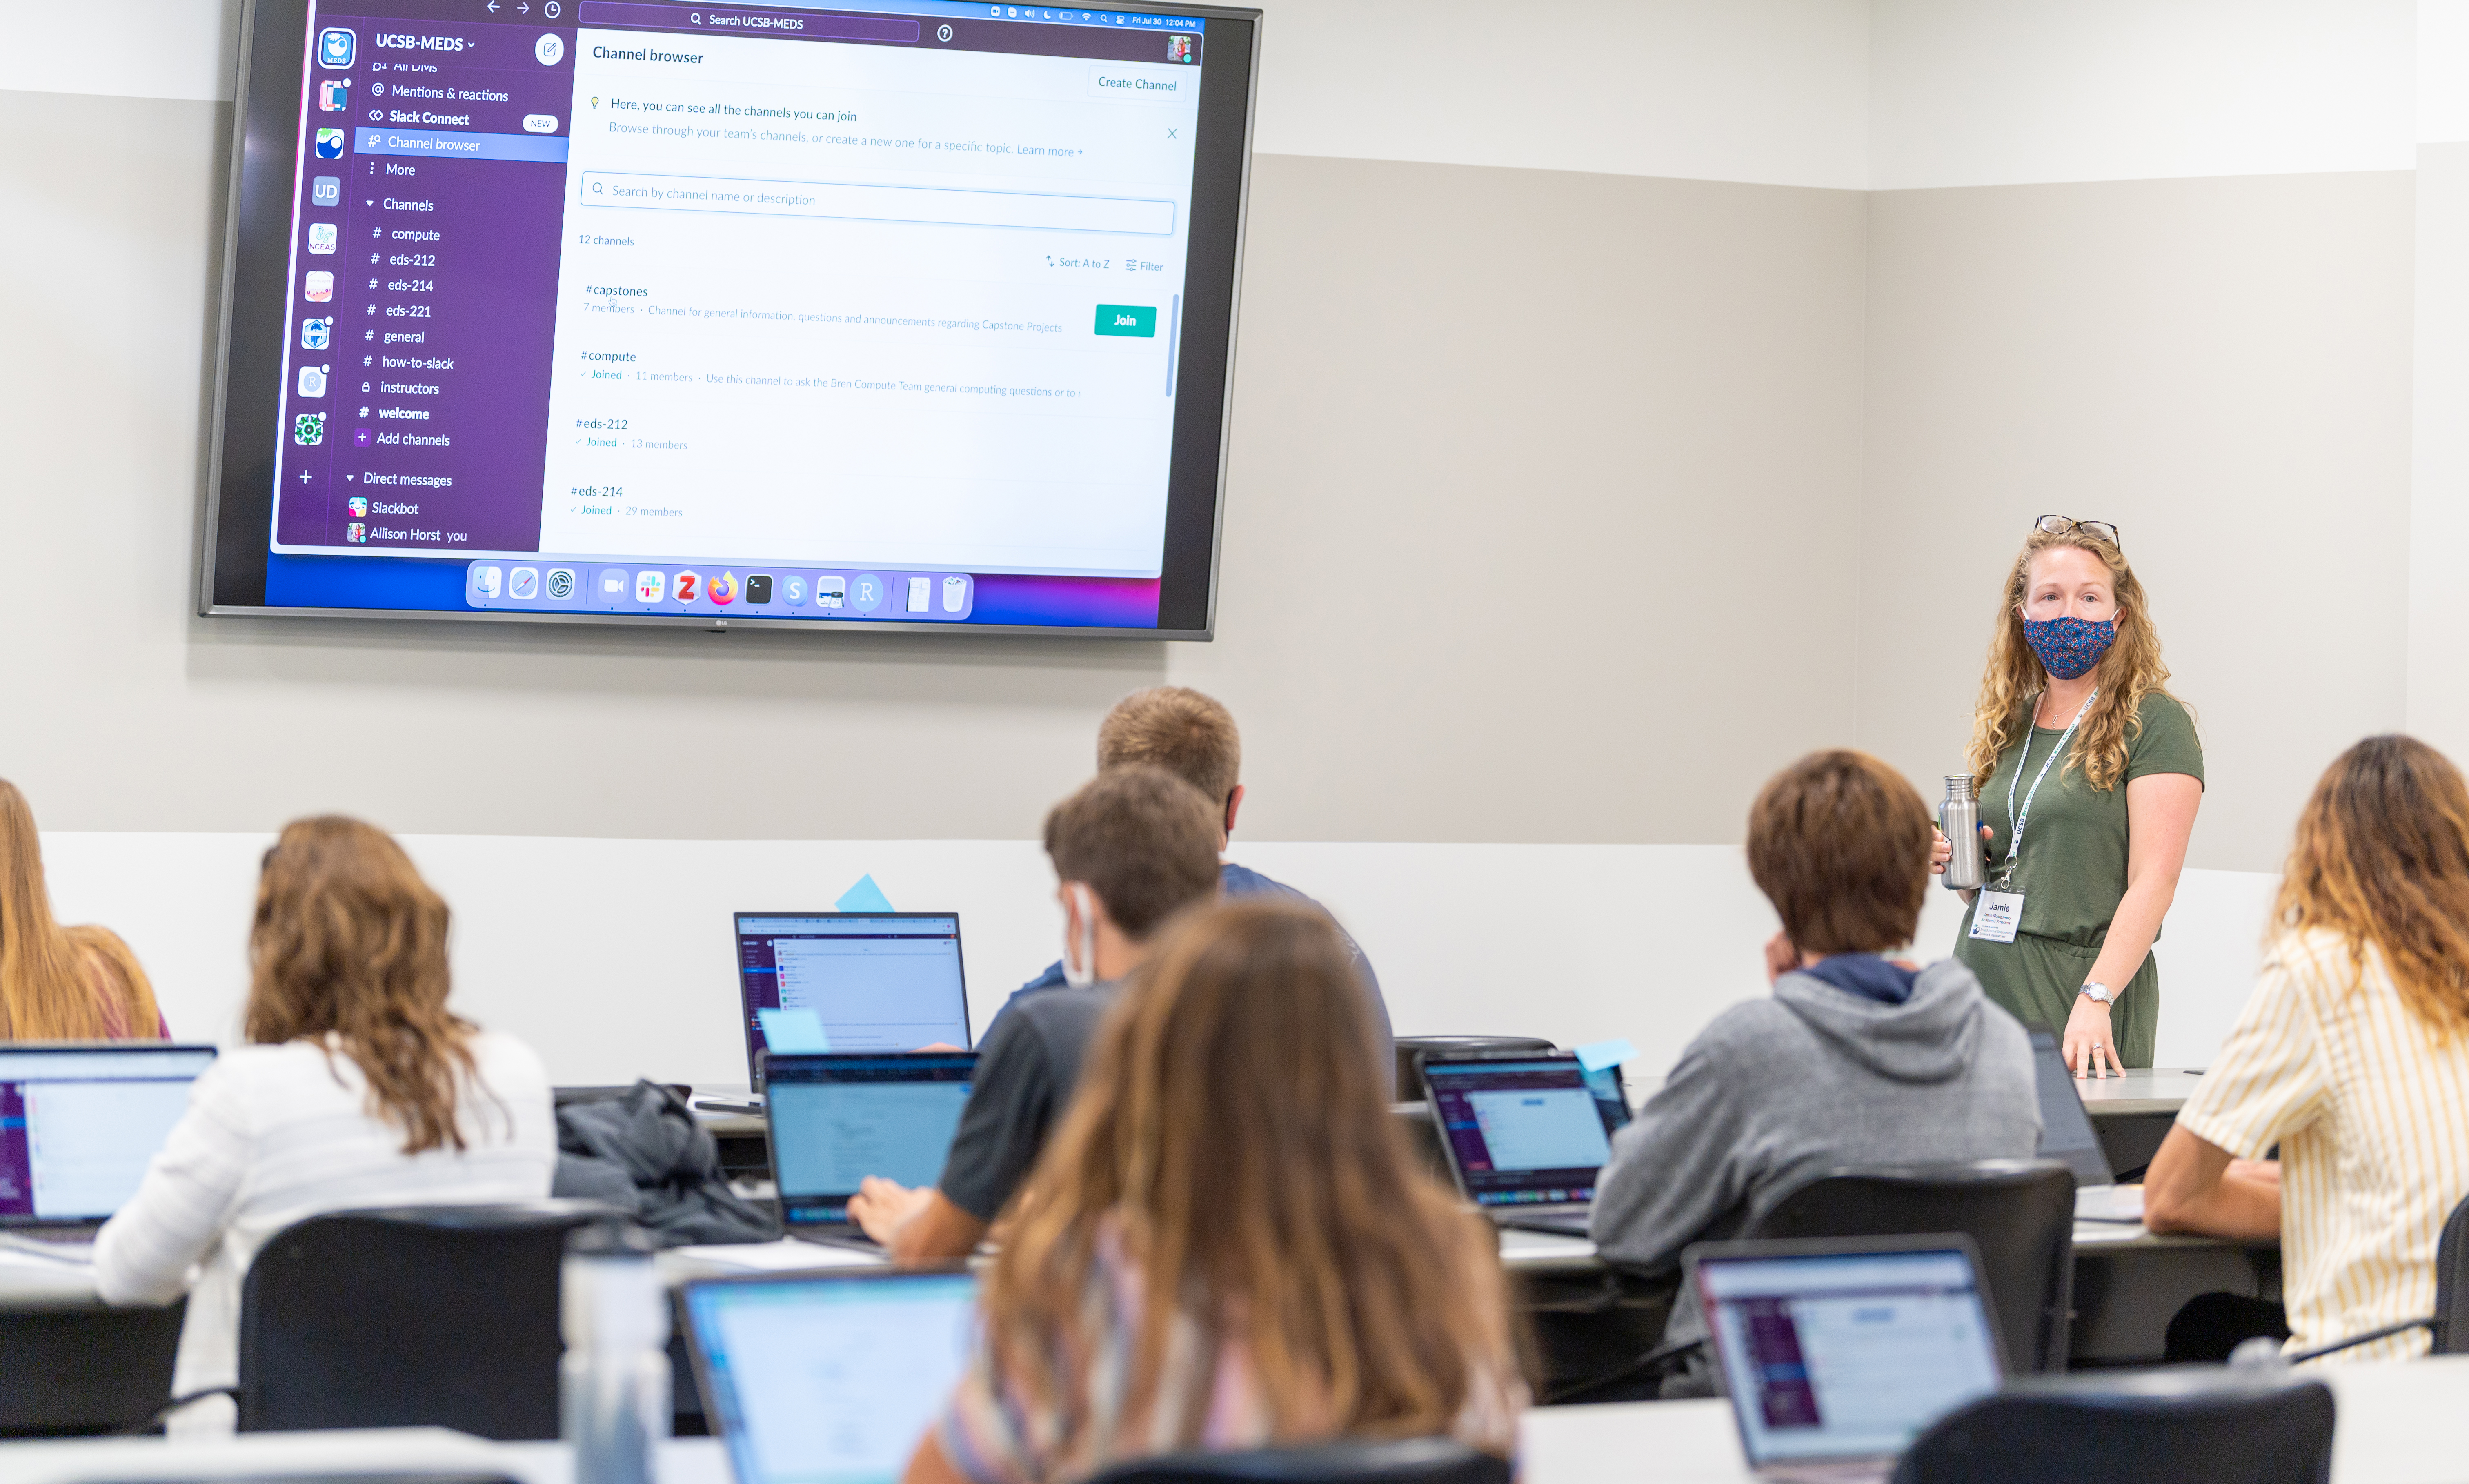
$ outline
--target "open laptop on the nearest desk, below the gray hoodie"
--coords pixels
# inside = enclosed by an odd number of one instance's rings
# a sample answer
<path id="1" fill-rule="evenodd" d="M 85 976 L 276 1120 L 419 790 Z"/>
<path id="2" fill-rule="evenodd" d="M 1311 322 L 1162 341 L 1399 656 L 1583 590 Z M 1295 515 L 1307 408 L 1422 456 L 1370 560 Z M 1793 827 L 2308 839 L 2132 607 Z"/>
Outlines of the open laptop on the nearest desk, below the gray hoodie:
<path id="1" fill-rule="evenodd" d="M 1760 1479 L 1886 1479 L 2005 1383 L 1968 1237 L 1701 1242 L 1681 1264 Z"/>

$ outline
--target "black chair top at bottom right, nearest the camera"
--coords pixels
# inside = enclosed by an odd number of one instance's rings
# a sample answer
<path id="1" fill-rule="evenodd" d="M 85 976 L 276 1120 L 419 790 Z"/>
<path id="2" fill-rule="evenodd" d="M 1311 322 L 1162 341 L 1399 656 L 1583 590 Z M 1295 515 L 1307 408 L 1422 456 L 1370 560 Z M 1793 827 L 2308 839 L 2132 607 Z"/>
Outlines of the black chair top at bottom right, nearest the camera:
<path id="1" fill-rule="evenodd" d="M 2323 1484 L 2331 1388 L 2210 1368 L 2044 1375 L 1948 1412 L 1894 1484 Z"/>

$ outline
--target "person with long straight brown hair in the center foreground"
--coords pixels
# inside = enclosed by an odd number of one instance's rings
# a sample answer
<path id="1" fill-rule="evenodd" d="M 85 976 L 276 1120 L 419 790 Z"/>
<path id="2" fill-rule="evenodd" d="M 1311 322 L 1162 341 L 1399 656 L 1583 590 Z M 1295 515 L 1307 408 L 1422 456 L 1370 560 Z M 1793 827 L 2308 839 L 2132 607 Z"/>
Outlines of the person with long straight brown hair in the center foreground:
<path id="1" fill-rule="evenodd" d="M 1022 1193 L 909 1484 L 1336 1437 L 1506 1457 L 1526 1385 L 1494 1235 L 1417 1170 L 1375 1047 L 1323 914 L 1254 899 L 1170 928 Z"/>

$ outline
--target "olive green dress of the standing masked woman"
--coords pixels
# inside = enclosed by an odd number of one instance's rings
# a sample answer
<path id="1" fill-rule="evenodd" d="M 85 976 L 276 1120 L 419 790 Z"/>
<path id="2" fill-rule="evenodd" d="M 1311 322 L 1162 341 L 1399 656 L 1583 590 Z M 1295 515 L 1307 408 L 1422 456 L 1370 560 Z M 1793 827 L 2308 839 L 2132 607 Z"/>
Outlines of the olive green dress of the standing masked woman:
<path id="1" fill-rule="evenodd" d="M 2091 788 L 2079 761 L 2049 768 L 2025 817 L 2022 854 L 2015 862 L 2012 889 L 2022 891 L 2022 926 L 2015 941 L 1973 938 L 1978 904 L 1963 914 L 1955 958 L 1980 975 L 1990 1000 L 2032 1030 L 2067 1032 L 2074 998 L 2091 978 L 2101 943 L 2109 941 L 2109 919 L 2126 899 L 2126 783 L 2146 773 L 2188 773 L 2202 783 L 2202 743 L 2195 741 L 2195 719 L 2185 706 L 2173 696 L 2150 694 L 2143 696 L 2141 721 L 2143 726 L 2131 728 L 2126 738 L 2126 780 L 2116 788 L 2106 793 Z M 2015 785 L 2015 805 L 2022 807 L 2032 775 L 2059 736 L 2062 726 L 2034 726 L 2030 761 L 2022 756 L 2025 743 L 2010 746 L 1980 788 L 1980 822 L 1995 830 L 1988 849 L 1990 884 L 2005 869 L 2015 830 L 2007 815 L 2007 783 L 2015 780 L 2017 763 L 2025 763 L 2022 783 Z M 2081 741 L 2076 733 L 2069 751 L 2079 751 Z M 2109 1010 L 2118 1059 L 2126 1067 L 2150 1067 L 2160 1030 L 2158 956 L 2146 956 L 2136 978 L 2111 988 L 2118 993 Z"/>

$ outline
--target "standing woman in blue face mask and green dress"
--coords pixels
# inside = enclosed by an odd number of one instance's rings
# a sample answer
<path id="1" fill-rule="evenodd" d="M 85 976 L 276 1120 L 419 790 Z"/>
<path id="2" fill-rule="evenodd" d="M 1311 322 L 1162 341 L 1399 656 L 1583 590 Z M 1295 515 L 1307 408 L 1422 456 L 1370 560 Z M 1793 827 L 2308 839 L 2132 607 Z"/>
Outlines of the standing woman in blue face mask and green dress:
<path id="1" fill-rule="evenodd" d="M 2076 1077 L 2153 1064 L 2150 948 L 2202 802 L 2195 719 L 2165 684 L 2116 526 L 2042 516 L 2005 580 L 1965 748 L 1988 886 L 1965 894 L 1955 958 L 2057 1032 Z"/>

